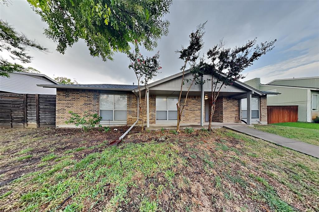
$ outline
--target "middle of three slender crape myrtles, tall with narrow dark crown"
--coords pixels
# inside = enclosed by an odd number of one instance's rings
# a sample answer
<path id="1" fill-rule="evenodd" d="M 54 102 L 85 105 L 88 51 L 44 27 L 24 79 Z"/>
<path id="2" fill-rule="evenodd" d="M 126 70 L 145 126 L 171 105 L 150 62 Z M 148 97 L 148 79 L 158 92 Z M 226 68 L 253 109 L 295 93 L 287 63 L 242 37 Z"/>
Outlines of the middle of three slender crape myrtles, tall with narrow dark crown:
<path id="1" fill-rule="evenodd" d="M 206 21 L 207 22 L 207 21 Z M 186 102 L 187 102 L 187 97 L 189 94 L 189 90 L 192 87 L 192 85 L 203 83 L 200 81 L 201 76 L 203 76 L 203 69 L 201 68 L 203 64 L 203 58 L 199 58 L 199 53 L 201 49 L 204 46 L 203 42 L 203 36 L 205 34 L 204 26 L 206 24 L 200 24 L 197 26 L 197 29 L 195 32 L 192 32 L 189 35 L 189 46 L 184 47 L 182 46 L 181 50 L 177 50 L 176 53 L 179 53 L 179 59 L 184 61 L 183 66 L 181 67 L 182 71 L 182 83 L 181 83 L 181 91 L 179 94 L 178 102 L 176 103 L 177 106 L 177 125 L 176 125 L 176 131 L 180 131 L 180 124 L 182 121 L 182 113 L 185 108 Z M 198 61 L 199 60 L 199 61 Z M 192 79 L 185 79 L 184 73 L 185 73 L 185 68 L 188 64 L 191 64 L 190 68 L 190 73 L 192 75 Z M 183 91 L 183 86 L 185 85 L 185 81 L 187 81 L 189 84 L 189 88 L 186 92 L 186 96 L 184 101 L 181 102 L 182 100 L 182 91 Z"/>

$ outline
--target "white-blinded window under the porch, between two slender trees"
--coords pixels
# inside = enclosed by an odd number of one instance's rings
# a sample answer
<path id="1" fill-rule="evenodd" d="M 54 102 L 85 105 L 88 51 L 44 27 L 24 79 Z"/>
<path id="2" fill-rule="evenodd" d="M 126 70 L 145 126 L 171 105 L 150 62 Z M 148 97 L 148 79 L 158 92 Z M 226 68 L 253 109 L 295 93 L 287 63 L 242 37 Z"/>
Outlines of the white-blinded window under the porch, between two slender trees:
<path id="1" fill-rule="evenodd" d="M 177 120 L 177 102 L 176 97 L 156 97 L 156 120 Z"/>

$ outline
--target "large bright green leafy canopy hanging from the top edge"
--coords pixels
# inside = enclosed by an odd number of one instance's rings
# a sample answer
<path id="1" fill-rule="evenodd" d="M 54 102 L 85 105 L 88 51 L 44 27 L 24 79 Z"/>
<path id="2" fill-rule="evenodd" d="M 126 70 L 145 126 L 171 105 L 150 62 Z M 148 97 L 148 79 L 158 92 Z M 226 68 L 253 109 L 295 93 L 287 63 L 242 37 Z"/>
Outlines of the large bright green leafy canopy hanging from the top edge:
<path id="1" fill-rule="evenodd" d="M 48 24 L 45 34 L 64 53 L 84 39 L 92 56 L 112 60 L 114 52 L 128 53 L 130 43 L 152 50 L 167 35 L 171 0 L 27 0 Z"/>

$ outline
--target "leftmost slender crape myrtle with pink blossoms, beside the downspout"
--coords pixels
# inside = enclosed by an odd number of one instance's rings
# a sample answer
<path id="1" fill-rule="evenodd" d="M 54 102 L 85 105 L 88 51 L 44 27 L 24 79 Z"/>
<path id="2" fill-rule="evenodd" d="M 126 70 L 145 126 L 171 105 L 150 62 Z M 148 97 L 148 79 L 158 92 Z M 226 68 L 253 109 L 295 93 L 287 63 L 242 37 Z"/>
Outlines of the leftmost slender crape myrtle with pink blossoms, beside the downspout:
<path id="1" fill-rule="evenodd" d="M 137 85 L 138 85 L 138 96 L 139 96 L 139 111 L 141 113 L 141 124 L 142 129 L 144 131 L 144 114 L 145 114 L 145 107 L 146 107 L 146 85 L 153 77 L 157 76 L 159 70 L 162 68 L 159 64 L 159 52 L 157 52 L 152 57 L 144 57 L 140 51 L 137 44 L 137 40 L 135 41 L 135 50 L 128 54 L 128 58 L 130 59 L 129 68 L 134 70 L 134 73 L 137 78 Z M 145 96 L 144 102 L 141 102 L 141 84 L 144 84 L 145 88 Z"/>

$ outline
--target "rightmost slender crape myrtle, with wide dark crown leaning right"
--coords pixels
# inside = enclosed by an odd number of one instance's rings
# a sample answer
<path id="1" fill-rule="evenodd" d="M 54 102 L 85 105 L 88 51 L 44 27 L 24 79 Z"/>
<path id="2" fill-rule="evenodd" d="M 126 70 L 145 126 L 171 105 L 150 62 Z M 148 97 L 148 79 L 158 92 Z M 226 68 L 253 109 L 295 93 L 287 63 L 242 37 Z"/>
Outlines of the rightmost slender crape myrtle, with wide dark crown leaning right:
<path id="1" fill-rule="evenodd" d="M 253 65 L 263 54 L 271 51 L 276 39 L 266 41 L 256 45 L 257 38 L 247 41 L 242 46 L 225 48 L 223 40 L 213 46 L 207 52 L 209 63 L 205 63 L 203 68 L 205 75 L 211 77 L 211 114 L 209 117 L 208 130 L 211 130 L 211 120 L 215 110 L 215 103 L 219 97 L 219 92 L 223 86 L 232 85 L 234 81 L 243 79 L 242 71 Z"/>

